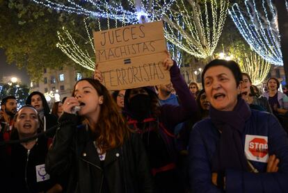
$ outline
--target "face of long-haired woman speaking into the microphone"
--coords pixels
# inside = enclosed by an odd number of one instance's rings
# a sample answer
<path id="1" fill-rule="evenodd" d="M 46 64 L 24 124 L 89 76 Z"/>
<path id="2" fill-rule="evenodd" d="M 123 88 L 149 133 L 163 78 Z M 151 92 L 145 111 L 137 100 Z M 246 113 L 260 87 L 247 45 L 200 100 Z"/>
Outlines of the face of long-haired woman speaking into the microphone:
<path id="1" fill-rule="evenodd" d="M 74 96 L 80 103 L 81 110 L 78 115 L 93 117 L 99 115 L 103 96 L 99 96 L 97 90 L 88 81 L 79 81 L 75 86 Z"/>

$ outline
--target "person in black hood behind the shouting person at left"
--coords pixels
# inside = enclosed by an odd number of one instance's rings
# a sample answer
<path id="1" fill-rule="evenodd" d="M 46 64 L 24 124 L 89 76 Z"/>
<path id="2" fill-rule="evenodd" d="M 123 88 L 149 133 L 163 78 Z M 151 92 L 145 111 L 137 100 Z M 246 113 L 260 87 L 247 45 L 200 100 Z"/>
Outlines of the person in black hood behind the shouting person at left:
<path id="1" fill-rule="evenodd" d="M 33 106 L 39 113 L 41 119 L 41 125 L 43 131 L 47 131 L 49 128 L 56 126 L 58 123 L 57 117 L 50 114 L 50 108 L 44 97 L 44 94 L 38 91 L 34 91 L 26 99 L 26 105 Z M 56 131 L 56 130 L 55 130 Z M 49 131 L 49 137 L 54 137 L 55 131 Z"/>

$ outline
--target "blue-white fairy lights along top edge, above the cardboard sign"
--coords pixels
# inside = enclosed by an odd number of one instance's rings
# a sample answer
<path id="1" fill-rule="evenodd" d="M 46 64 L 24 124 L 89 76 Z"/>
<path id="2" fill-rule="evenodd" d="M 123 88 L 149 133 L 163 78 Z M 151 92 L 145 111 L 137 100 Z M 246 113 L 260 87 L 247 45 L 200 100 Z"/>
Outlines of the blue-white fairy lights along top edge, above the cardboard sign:
<path id="1" fill-rule="evenodd" d="M 163 12 L 169 10 L 175 0 L 141 0 L 141 10 L 136 10 L 134 0 L 129 0 L 129 10 L 118 1 L 82 0 L 75 3 L 67 0 L 61 3 L 56 0 L 33 0 L 35 3 L 50 9 L 86 15 L 92 18 L 115 19 L 126 24 L 137 24 L 139 17 L 144 15 L 147 22 L 161 19 Z M 88 9 L 90 8 L 90 10 Z"/>

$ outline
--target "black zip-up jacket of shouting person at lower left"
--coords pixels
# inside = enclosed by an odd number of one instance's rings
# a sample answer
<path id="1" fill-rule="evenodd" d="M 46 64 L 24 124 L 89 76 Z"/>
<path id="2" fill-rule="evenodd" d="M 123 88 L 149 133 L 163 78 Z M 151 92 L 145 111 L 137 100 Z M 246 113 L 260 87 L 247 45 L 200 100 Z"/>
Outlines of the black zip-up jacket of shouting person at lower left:
<path id="1" fill-rule="evenodd" d="M 18 140 L 18 138 L 12 140 Z M 39 137 L 29 153 L 22 144 L 11 145 L 11 154 L 6 158 L 6 160 L 10 160 L 6 165 L 8 171 L 6 178 L 10 180 L 3 189 L 1 187 L 0 192 L 45 192 L 54 186 L 56 181 L 46 176 L 45 170 L 38 171 L 36 169 L 45 164 L 47 151 L 48 140 L 45 137 Z M 38 175 L 39 178 L 45 177 L 44 181 L 37 179 Z M 7 190 L 5 190 L 5 186 Z"/>

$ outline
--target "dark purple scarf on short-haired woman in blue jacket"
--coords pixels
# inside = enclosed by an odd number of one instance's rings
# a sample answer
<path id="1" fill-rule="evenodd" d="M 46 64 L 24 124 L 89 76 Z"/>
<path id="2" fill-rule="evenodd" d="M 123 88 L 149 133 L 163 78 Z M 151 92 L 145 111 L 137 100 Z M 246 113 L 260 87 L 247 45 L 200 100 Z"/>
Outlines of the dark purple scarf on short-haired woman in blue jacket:
<path id="1" fill-rule="evenodd" d="M 241 134 L 251 111 L 241 97 L 233 111 L 216 110 L 210 106 L 211 121 L 221 131 L 220 141 L 212 158 L 212 172 L 224 173 L 226 169 L 248 171 Z"/>

